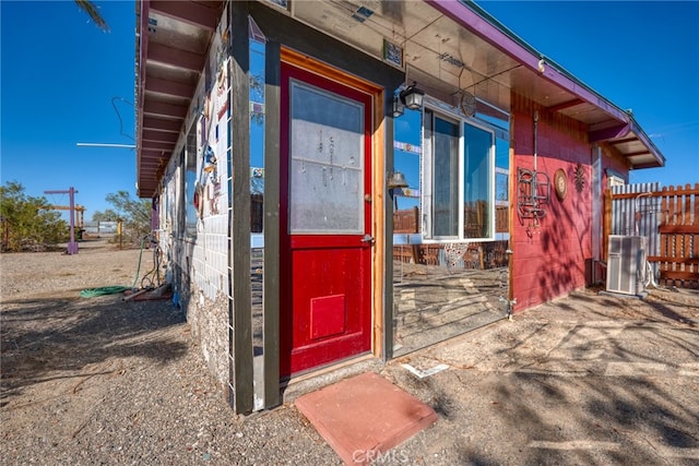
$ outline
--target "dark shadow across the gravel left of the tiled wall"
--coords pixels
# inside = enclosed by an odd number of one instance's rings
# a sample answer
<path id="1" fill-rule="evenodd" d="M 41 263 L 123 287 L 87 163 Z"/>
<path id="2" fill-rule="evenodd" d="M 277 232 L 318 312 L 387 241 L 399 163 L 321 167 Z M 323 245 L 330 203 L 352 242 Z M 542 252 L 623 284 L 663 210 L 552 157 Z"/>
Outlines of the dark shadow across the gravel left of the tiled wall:
<path id="1" fill-rule="evenodd" d="M 185 322 L 168 301 L 26 299 L 2 302 L 0 406 L 42 382 L 90 375 L 112 358 L 145 357 L 156 363 L 180 358 L 187 344 L 168 328 Z"/>

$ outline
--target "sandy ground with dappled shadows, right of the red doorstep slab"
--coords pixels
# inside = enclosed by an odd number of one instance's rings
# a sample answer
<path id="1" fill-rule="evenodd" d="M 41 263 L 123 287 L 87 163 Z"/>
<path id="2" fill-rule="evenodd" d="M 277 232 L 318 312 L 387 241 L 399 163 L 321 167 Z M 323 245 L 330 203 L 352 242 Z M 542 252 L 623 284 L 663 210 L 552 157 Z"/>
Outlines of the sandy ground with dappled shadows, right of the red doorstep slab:
<path id="1" fill-rule="evenodd" d="M 414 357 L 449 371 L 393 374 L 447 430 L 466 427 L 435 433 L 459 464 L 697 464 L 697 303 L 573 294 Z"/>

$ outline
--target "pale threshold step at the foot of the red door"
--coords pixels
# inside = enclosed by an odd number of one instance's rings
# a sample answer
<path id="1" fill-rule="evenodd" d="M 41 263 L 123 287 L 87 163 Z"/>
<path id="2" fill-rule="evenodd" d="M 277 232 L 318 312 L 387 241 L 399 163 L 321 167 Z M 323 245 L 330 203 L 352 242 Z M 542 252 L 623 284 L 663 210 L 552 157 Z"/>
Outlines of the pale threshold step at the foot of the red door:
<path id="1" fill-rule="evenodd" d="M 292 375 L 291 379 L 280 382 L 282 403 L 293 402 L 306 393 L 315 392 L 352 375 L 367 371 L 379 372 L 382 368 L 383 362 L 371 353 L 367 353 L 309 372 Z"/>

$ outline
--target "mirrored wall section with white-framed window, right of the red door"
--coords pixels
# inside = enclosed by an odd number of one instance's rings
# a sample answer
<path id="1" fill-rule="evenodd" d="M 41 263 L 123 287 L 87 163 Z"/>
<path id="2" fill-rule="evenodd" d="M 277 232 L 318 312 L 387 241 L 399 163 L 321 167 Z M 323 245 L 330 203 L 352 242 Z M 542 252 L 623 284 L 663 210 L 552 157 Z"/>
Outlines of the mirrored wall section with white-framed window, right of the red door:
<path id="1" fill-rule="evenodd" d="M 509 121 L 437 107 L 394 119 L 394 357 L 507 314 Z"/>

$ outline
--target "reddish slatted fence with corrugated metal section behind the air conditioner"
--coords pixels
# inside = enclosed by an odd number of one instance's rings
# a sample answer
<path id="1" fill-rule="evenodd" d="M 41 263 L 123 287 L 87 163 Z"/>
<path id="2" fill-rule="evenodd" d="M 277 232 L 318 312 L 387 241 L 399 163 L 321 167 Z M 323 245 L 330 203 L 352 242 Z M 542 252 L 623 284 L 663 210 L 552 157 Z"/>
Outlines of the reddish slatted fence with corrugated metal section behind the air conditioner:
<path id="1" fill-rule="evenodd" d="M 607 190 L 605 254 L 608 235 L 645 236 L 648 260 L 659 273 L 660 285 L 699 288 L 699 183 Z"/>

